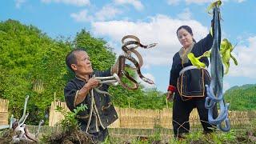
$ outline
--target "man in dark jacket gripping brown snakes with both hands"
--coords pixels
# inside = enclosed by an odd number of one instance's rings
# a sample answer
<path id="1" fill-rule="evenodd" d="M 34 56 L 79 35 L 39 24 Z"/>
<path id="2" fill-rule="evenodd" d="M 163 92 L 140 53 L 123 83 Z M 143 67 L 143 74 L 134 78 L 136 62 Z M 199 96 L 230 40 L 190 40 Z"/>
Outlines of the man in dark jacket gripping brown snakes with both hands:
<path id="1" fill-rule="evenodd" d="M 71 111 L 81 104 L 88 107 L 78 114 L 81 130 L 91 134 L 94 141 L 102 142 L 108 135 L 107 126 L 118 119 L 118 114 L 110 102 L 109 95 L 93 90 L 94 97 L 92 97 L 90 91 L 99 84 L 99 81 L 92 76 L 110 76 L 117 70 L 117 65 L 106 71 L 94 71 L 90 57 L 82 49 L 75 49 L 67 54 L 66 65 L 75 74 L 75 78 L 70 80 L 64 89 L 66 105 Z M 98 89 L 107 91 L 108 87 L 103 84 Z"/>

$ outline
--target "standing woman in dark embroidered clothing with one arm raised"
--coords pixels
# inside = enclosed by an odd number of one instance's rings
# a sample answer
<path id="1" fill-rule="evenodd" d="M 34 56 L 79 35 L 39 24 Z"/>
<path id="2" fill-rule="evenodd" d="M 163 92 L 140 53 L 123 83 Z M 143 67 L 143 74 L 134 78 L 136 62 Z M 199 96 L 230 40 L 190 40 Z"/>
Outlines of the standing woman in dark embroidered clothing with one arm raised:
<path id="1" fill-rule="evenodd" d="M 208 122 L 208 110 L 205 108 L 206 88 L 210 85 L 210 74 L 206 69 L 198 69 L 187 58 L 190 52 L 195 57 L 201 56 L 210 50 L 214 37 L 208 34 L 199 42 L 195 42 L 190 26 L 180 26 L 177 30 L 179 42 L 182 48 L 174 54 L 173 64 L 170 70 L 170 86 L 168 86 L 167 99 L 174 99 L 173 126 L 174 136 L 182 137 L 182 134 L 190 130 L 190 112 L 197 108 L 205 133 L 212 131 Z M 208 58 L 201 58 L 206 66 L 209 66 Z M 174 95 L 174 98 L 173 98 Z M 214 108 L 216 118 L 217 109 Z"/>

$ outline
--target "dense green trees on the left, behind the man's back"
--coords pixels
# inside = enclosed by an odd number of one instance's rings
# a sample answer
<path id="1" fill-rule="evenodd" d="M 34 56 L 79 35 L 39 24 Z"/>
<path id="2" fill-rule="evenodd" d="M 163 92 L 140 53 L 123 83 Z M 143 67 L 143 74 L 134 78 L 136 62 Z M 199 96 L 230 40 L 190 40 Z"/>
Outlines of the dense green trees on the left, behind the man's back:
<path id="1" fill-rule="evenodd" d="M 63 99 L 65 57 L 70 45 L 14 20 L 1 22 L 0 32 L 0 97 L 10 101 L 10 114 L 20 118 L 26 94 L 30 95 L 27 122 L 38 124 L 34 119 L 44 117 L 54 92 Z"/>

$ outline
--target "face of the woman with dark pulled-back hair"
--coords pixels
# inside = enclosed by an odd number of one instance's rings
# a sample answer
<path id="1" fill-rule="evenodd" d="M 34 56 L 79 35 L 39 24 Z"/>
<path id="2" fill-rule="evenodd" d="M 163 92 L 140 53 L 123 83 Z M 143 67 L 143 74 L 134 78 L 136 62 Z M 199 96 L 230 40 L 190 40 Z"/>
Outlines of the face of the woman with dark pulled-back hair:
<path id="1" fill-rule="evenodd" d="M 193 42 L 193 35 L 182 28 L 178 30 L 178 41 L 181 42 L 184 48 L 188 48 Z"/>

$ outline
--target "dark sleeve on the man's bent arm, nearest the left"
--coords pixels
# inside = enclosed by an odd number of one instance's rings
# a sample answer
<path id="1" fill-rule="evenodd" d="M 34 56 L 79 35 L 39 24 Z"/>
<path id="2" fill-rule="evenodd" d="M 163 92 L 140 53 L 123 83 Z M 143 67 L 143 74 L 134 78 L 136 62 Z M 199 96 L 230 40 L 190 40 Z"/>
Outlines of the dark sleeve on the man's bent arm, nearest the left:
<path id="1" fill-rule="evenodd" d="M 76 88 L 73 82 L 68 82 L 64 89 L 64 96 L 66 100 L 66 106 L 73 111 L 75 106 L 76 98 L 78 97 L 79 90 Z"/>

